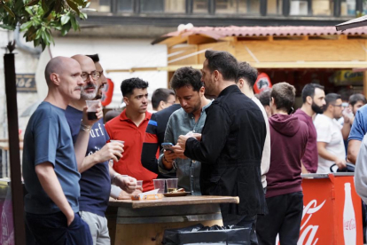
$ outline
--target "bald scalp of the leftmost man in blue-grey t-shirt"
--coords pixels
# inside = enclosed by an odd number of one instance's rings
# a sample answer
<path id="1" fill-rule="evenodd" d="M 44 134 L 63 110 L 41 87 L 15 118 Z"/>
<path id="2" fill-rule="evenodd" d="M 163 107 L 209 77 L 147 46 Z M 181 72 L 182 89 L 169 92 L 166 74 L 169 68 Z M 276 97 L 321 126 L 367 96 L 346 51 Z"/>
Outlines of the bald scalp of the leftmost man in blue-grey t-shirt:
<path id="1" fill-rule="evenodd" d="M 62 75 L 69 70 L 70 67 L 79 67 L 79 64 L 74 59 L 68 57 L 58 56 L 52 58 L 49 63 L 47 63 L 47 66 L 44 70 L 44 76 L 46 78 L 47 85 L 51 85 L 52 74 Z"/>

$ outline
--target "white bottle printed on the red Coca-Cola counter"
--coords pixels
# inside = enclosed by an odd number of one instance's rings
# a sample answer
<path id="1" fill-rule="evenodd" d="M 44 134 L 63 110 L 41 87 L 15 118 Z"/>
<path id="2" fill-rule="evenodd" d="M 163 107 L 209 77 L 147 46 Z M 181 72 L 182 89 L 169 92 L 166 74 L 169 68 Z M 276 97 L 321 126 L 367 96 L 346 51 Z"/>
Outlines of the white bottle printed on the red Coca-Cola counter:
<path id="1" fill-rule="evenodd" d="M 343 212 L 343 233 L 344 244 L 356 244 L 356 227 L 355 227 L 355 208 L 352 202 L 352 194 L 350 190 L 350 183 L 344 184 L 345 201 Z"/>

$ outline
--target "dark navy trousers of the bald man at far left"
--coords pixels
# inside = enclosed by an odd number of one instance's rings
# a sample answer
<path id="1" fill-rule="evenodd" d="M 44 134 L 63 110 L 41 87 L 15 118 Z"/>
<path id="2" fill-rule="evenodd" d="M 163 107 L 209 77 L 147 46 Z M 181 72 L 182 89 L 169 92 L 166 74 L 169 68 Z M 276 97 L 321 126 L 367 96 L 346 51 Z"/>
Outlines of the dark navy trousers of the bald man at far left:
<path id="1" fill-rule="evenodd" d="M 29 233 L 27 241 L 35 241 L 39 245 L 92 245 L 90 227 L 79 214 L 75 214 L 73 222 L 67 226 L 66 216 L 62 212 L 36 215 L 26 213 L 26 225 Z"/>

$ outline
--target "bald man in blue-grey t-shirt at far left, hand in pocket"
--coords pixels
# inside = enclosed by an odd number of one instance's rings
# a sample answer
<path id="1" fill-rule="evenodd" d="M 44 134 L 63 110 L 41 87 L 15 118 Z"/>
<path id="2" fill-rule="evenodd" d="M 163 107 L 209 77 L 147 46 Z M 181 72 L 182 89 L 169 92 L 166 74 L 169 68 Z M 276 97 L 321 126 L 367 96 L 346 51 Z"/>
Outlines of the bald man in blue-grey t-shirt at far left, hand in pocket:
<path id="1" fill-rule="evenodd" d="M 84 108 L 75 155 L 65 117 L 70 100 L 81 96 L 81 74 L 74 59 L 51 59 L 45 70 L 49 92 L 27 124 L 23 149 L 27 241 L 37 244 L 92 244 L 89 226 L 77 213 L 78 166 L 84 159 L 89 130 L 98 120 L 88 120 Z M 100 108 L 97 115 L 102 117 Z"/>

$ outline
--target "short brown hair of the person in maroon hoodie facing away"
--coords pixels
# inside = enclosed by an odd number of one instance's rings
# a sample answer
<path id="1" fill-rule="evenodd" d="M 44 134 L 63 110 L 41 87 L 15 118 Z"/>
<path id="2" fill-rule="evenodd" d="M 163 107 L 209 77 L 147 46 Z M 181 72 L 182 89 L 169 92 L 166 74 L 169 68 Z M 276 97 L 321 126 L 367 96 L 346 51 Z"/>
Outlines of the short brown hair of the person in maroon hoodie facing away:
<path id="1" fill-rule="evenodd" d="M 274 103 L 278 110 L 284 110 L 287 113 L 291 111 L 295 99 L 295 88 L 293 85 L 285 82 L 274 84 L 270 95 L 274 98 Z"/>

